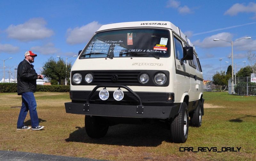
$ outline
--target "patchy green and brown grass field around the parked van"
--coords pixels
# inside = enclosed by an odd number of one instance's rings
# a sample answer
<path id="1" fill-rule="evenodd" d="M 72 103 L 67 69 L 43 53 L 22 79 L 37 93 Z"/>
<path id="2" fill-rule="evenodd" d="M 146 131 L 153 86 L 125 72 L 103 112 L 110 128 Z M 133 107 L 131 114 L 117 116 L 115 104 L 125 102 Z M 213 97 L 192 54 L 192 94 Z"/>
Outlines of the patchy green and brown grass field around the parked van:
<path id="1" fill-rule="evenodd" d="M 36 92 L 44 130 L 16 130 L 21 96 L 0 93 L 0 150 L 17 150 L 106 160 L 253 160 L 256 158 L 256 97 L 204 92 L 202 127 L 189 127 L 188 140 L 171 143 L 158 125 L 116 125 L 101 139 L 85 133 L 84 115 L 68 114 L 68 93 Z M 30 126 L 29 114 L 25 124 Z M 240 152 L 180 152 L 180 147 L 241 147 Z M 205 148 L 206 149 L 206 148 Z M 224 149 L 225 150 L 225 149 Z"/>

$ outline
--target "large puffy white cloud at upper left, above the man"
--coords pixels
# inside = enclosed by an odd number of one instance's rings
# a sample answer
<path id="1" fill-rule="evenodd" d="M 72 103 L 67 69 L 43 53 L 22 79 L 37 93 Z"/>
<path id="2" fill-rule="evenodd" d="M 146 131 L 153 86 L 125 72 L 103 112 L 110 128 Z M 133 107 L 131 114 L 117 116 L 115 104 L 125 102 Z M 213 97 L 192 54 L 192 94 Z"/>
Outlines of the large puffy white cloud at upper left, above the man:
<path id="1" fill-rule="evenodd" d="M 10 25 L 6 32 L 9 38 L 28 42 L 52 36 L 53 31 L 47 29 L 45 25 L 46 21 L 43 18 L 33 18 L 24 24 Z"/>

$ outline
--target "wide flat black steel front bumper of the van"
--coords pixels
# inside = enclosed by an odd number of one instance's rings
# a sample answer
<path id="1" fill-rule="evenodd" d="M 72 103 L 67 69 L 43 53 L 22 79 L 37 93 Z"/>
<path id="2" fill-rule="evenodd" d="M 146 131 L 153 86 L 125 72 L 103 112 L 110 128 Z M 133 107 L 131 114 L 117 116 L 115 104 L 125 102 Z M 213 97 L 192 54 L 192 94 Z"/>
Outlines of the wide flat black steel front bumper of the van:
<path id="1" fill-rule="evenodd" d="M 166 119 L 177 115 L 179 107 L 173 106 L 134 106 L 111 104 L 65 103 L 67 113 L 131 118 Z"/>

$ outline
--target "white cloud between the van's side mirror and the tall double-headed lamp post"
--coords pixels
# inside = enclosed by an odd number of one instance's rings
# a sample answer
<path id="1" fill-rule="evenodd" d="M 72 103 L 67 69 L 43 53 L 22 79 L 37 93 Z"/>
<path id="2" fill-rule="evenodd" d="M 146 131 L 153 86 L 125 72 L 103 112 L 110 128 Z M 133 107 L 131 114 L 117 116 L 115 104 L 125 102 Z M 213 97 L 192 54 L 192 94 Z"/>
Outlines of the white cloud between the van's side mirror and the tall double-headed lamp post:
<path id="1" fill-rule="evenodd" d="M 231 46 L 231 43 L 223 42 L 223 41 L 213 41 L 213 39 L 231 41 L 232 37 L 233 37 L 232 34 L 223 32 L 223 33 L 206 37 L 202 42 L 200 40 L 196 40 L 195 42 L 192 42 L 192 43 L 195 46 L 201 47 L 201 48 L 226 47 L 226 46 Z"/>

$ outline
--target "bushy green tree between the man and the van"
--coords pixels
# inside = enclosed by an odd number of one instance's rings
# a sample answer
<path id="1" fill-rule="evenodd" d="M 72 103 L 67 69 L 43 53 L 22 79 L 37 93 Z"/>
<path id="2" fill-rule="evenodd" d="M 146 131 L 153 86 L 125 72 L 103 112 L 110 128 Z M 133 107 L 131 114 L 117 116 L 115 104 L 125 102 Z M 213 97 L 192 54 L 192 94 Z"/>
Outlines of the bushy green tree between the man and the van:
<path id="1" fill-rule="evenodd" d="M 65 78 L 69 78 L 69 73 L 71 70 L 71 63 L 66 62 L 59 58 L 56 61 L 53 57 L 50 57 L 47 62 L 43 64 L 42 74 L 51 80 L 51 84 L 65 84 Z M 67 72 L 66 72 L 67 71 Z"/>

